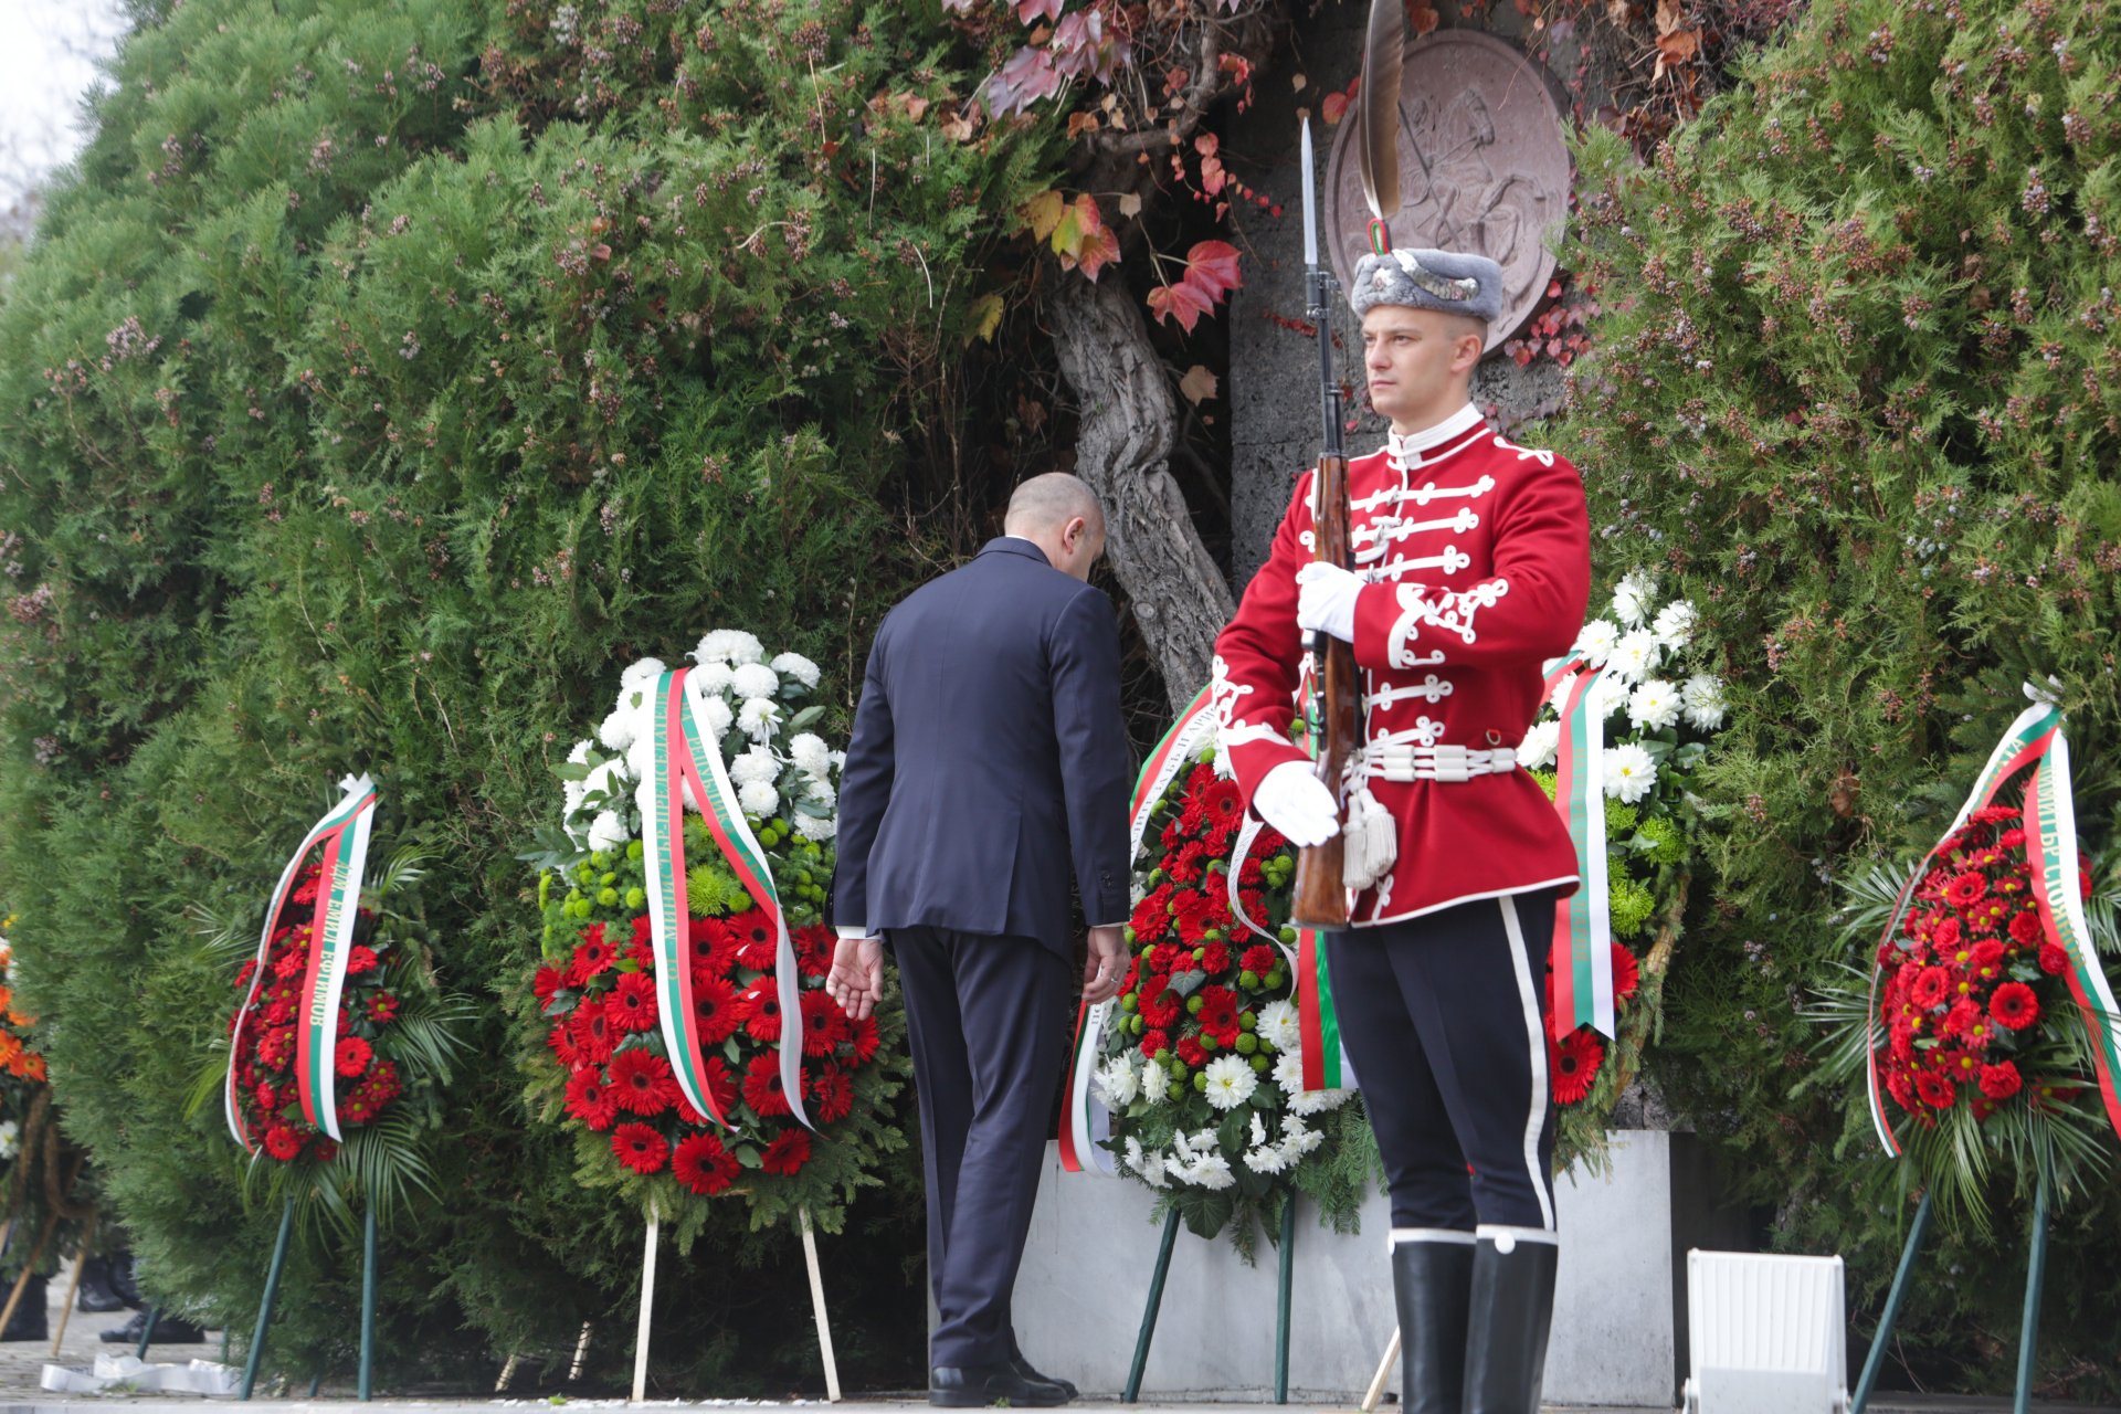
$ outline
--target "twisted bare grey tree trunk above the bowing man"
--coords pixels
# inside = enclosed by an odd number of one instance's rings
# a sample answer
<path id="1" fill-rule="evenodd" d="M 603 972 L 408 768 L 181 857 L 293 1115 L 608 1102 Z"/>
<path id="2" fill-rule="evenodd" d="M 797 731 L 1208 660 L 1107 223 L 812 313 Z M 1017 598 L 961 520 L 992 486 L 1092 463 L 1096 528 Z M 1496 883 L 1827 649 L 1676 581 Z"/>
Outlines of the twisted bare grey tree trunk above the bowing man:
<path id="1" fill-rule="evenodd" d="M 1082 405 L 1075 473 L 1105 502 L 1105 553 L 1175 712 L 1207 685 L 1232 600 L 1167 471 L 1177 439 L 1171 379 L 1118 278 L 1071 276 L 1048 288 L 1060 375 Z"/>

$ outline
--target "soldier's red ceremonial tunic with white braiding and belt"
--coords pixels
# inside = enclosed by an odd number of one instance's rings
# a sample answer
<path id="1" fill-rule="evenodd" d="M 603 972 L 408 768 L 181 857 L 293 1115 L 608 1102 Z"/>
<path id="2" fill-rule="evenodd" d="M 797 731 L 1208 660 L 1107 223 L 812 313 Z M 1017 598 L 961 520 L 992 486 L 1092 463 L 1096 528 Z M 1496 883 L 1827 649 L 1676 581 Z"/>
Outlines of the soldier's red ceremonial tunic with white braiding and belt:
<path id="1" fill-rule="evenodd" d="M 1349 462 L 1355 666 L 1362 742 L 1514 748 L 1540 708 L 1546 659 L 1576 642 L 1591 598 L 1582 479 L 1553 452 L 1519 447 L 1472 407 Z M 1296 481 L 1275 549 L 1215 640 L 1222 744 L 1245 803 L 1270 770 L 1307 761 L 1290 740 L 1309 636 L 1296 570 L 1315 560 L 1313 475 Z M 1449 755 L 1449 753 L 1447 753 Z M 1531 888 L 1574 892 L 1576 850 L 1523 767 L 1470 780 L 1366 784 L 1398 823 L 1398 863 L 1349 918 L 1381 924 Z"/>

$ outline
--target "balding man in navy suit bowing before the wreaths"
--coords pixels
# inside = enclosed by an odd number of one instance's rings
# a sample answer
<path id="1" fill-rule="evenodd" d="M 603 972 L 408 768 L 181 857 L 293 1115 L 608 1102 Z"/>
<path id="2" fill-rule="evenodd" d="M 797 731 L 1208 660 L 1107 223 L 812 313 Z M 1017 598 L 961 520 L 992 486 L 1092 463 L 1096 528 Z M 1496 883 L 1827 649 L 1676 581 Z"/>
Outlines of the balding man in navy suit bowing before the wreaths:
<path id="1" fill-rule="evenodd" d="M 921 1090 L 929 1401 L 1054 1406 L 1010 1291 L 1069 1043 L 1069 863 L 1092 920 L 1084 998 L 1120 990 L 1130 909 L 1126 727 L 1105 515 L 1069 475 L 1024 481 L 1003 534 L 876 630 L 840 782 L 827 988 L 867 1015 L 891 945 Z"/>

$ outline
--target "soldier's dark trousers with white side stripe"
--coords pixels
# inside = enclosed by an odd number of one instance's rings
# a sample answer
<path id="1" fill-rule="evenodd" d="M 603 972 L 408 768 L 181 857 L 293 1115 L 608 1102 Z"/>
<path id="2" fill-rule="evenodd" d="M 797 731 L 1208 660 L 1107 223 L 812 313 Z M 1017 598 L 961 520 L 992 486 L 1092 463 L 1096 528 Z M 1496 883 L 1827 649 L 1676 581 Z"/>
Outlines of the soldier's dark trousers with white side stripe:
<path id="1" fill-rule="evenodd" d="M 1393 1230 L 1555 1227 L 1553 931 L 1555 890 L 1542 888 L 1328 935 Z"/>

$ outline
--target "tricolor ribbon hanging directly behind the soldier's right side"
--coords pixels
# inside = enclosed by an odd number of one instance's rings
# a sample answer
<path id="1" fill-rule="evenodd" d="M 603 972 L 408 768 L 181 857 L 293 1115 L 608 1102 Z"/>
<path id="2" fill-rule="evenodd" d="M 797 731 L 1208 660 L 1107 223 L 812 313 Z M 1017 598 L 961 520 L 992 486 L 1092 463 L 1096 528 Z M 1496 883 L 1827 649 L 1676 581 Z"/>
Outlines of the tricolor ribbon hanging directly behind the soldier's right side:
<path id="1" fill-rule="evenodd" d="M 1561 1041 L 1578 1026 L 1614 1035 L 1612 895 L 1606 861 L 1606 714 L 1591 706 L 1603 674 L 1570 655 L 1546 674 L 1546 700 L 1561 714 L 1555 744 L 1555 810 L 1576 848 L 1576 892 L 1555 901 L 1548 956 L 1555 1005 L 1546 1026 Z"/>

